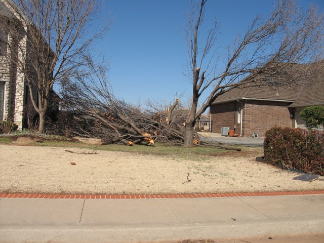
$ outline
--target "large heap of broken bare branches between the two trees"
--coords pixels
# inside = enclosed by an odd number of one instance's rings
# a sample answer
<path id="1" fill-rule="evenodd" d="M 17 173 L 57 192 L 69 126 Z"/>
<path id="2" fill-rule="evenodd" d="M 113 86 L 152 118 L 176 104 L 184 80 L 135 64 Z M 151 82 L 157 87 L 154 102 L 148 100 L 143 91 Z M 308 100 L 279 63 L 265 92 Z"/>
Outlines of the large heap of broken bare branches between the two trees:
<path id="1" fill-rule="evenodd" d="M 144 110 L 114 96 L 104 69 L 93 68 L 89 73 L 62 84 L 63 102 L 73 117 L 65 126 L 70 125 L 73 135 L 126 145 L 183 143 L 187 111 L 179 108 L 177 98 L 163 110 Z"/>

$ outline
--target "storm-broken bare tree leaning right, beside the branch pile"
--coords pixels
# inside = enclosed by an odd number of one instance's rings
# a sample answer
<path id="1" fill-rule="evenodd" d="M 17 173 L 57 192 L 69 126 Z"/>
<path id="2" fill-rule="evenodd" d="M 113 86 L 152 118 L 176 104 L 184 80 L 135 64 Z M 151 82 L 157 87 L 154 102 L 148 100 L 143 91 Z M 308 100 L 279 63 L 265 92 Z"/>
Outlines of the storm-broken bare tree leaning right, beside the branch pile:
<path id="1" fill-rule="evenodd" d="M 187 73 L 192 80 L 192 105 L 185 123 L 186 147 L 193 145 L 196 120 L 219 95 L 235 87 L 255 84 L 256 76 L 266 79 L 289 64 L 323 57 L 323 13 L 318 13 L 316 7 L 298 9 L 293 0 L 279 0 L 268 17 L 253 19 L 246 32 L 227 47 L 227 56 L 221 59 L 215 47 L 217 22 L 205 39 L 200 39 L 203 35 L 199 35 L 207 2 L 201 0 L 193 6 L 186 28 Z M 199 98 L 205 93 L 206 100 L 197 108 Z"/>

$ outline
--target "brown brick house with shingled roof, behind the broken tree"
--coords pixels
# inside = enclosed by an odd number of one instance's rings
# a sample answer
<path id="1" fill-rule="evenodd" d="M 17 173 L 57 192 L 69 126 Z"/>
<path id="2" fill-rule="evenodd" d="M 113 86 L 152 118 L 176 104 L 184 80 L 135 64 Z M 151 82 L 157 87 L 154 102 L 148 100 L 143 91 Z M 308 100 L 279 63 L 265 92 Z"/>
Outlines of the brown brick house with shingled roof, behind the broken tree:
<path id="1" fill-rule="evenodd" d="M 222 127 L 235 130 L 240 136 L 251 137 L 274 127 L 304 128 L 299 112 L 311 105 L 324 105 L 324 76 L 315 82 L 296 86 L 263 85 L 234 88 L 217 97 L 211 105 L 212 132 Z"/>

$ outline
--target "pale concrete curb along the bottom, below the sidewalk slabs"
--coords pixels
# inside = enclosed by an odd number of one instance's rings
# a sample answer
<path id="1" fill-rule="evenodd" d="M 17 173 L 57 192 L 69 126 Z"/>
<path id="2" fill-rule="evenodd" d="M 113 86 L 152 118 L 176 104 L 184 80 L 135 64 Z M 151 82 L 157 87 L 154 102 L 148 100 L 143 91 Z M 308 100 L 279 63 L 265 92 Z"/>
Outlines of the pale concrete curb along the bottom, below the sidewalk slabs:
<path id="1" fill-rule="evenodd" d="M 295 222 L 250 222 L 243 224 L 197 224 L 197 225 L 169 225 L 169 226 L 145 226 L 137 227 L 36 227 L 36 228 L 2 228 L 2 242 L 199 242 L 201 239 L 215 239 L 223 242 L 223 239 L 235 239 L 233 242 L 259 242 L 247 241 L 244 238 L 265 238 L 260 242 L 268 242 L 268 236 L 293 236 L 323 234 L 321 225 L 323 220 L 308 220 Z M 191 239 L 186 241 L 185 239 Z M 219 241 L 220 240 L 220 241 Z M 202 241 L 215 242 L 215 241 Z M 232 241 L 226 241 L 232 242 Z M 270 240 L 269 240 L 270 242 Z M 284 242 L 284 241 L 282 241 Z M 294 242 L 287 239 L 286 242 Z M 298 241 L 307 242 L 307 241 Z M 311 242 L 311 241 L 308 241 Z M 320 242 L 320 241 L 316 241 Z"/>

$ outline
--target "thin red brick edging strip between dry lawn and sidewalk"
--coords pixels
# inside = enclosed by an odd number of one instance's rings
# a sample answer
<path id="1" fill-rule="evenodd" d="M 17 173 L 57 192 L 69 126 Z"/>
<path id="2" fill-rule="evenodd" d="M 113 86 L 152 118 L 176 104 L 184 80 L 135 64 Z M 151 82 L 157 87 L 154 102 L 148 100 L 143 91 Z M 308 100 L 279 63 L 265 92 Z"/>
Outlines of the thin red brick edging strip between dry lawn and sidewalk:
<path id="1" fill-rule="evenodd" d="M 273 191 L 273 192 L 232 192 L 206 194 L 139 194 L 139 195 L 106 195 L 106 194 L 31 194 L 0 193 L 0 198 L 50 198 L 50 199 L 153 199 L 153 198 L 202 198 L 202 197 L 239 197 L 239 196 L 285 196 L 324 194 L 324 191 Z"/>

